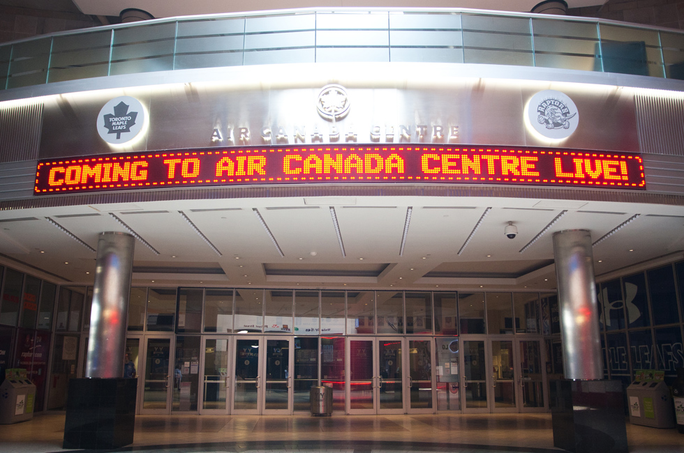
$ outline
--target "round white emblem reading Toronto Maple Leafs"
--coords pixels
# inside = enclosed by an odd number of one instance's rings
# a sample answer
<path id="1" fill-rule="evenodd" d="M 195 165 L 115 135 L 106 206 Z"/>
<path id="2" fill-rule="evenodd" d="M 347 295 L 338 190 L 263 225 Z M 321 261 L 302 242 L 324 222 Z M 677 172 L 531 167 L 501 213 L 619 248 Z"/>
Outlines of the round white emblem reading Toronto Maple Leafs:
<path id="1" fill-rule="evenodd" d="M 119 145 L 133 140 L 145 123 L 145 110 L 139 100 L 119 96 L 107 102 L 98 114 L 98 133 L 104 141 Z"/>

